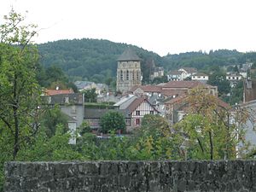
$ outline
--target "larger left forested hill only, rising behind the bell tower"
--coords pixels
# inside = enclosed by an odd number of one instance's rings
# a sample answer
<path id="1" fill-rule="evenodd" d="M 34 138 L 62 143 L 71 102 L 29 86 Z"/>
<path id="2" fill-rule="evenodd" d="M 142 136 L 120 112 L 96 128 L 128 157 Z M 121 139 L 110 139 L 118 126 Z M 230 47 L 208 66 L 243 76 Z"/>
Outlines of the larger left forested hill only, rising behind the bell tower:
<path id="1" fill-rule="evenodd" d="M 152 60 L 156 64 L 164 65 L 160 55 L 133 45 L 117 44 L 108 40 L 88 38 L 60 40 L 38 44 L 38 49 L 44 67 L 53 65 L 61 67 L 67 73 L 69 79 L 72 80 L 88 79 L 95 82 L 104 82 L 115 77 L 116 60 L 128 46 L 135 49 L 137 55 L 142 59 L 142 69 L 145 77 L 148 77 L 147 65 Z"/>

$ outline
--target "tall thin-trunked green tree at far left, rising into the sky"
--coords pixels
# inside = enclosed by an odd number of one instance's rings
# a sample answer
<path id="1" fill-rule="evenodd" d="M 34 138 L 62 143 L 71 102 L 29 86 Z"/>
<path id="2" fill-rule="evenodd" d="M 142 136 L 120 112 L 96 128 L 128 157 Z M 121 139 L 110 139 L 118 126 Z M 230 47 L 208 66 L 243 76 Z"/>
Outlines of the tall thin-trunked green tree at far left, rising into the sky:
<path id="1" fill-rule="evenodd" d="M 36 80 L 38 51 L 31 43 L 34 25 L 11 10 L 0 26 L 0 120 L 9 131 L 13 159 L 38 131 L 40 87 Z"/>

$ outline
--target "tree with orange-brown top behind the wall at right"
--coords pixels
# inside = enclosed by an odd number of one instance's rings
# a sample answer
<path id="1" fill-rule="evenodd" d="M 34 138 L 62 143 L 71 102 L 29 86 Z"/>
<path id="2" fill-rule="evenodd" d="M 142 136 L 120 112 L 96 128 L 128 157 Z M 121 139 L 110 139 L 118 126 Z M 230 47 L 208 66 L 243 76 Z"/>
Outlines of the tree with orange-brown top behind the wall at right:
<path id="1" fill-rule="evenodd" d="M 245 142 L 241 125 L 248 119 L 247 111 L 231 111 L 217 97 L 200 89 L 192 90 L 187 102 L 188 114 L 174 127 L 176 133 L 183 136 L 188 157 L 209 160 L 236 158 L 239 153 L 237 144 Z"/>

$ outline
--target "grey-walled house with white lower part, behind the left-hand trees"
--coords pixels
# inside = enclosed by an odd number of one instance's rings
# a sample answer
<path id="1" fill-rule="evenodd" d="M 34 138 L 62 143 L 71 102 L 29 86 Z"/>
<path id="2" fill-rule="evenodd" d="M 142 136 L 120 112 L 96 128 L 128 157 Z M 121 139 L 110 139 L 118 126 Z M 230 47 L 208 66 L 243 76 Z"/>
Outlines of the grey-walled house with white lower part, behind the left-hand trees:
<path id="1" fill-rule="evenodd" d="M 80 93 L 58 94 L 43 96 L 44 105 L 58 106 L 61 112 L 67 115 L 68 128 L 72 136 L 84 120 L 84 96 Z M 69 143 L 76 143 L 72 137 Z"/>

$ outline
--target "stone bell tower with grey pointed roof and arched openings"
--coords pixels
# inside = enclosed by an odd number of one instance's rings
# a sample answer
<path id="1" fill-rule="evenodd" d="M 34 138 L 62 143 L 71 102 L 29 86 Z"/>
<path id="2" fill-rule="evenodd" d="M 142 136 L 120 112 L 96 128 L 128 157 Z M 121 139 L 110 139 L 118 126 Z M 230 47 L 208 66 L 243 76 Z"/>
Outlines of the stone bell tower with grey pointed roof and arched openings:
<path id="1" fill-rule="evenodd" d="M 142 84 L 141 59 L 131 48 L 125 49 L 117 61 L 116 90 L 124 93 Z"/>

